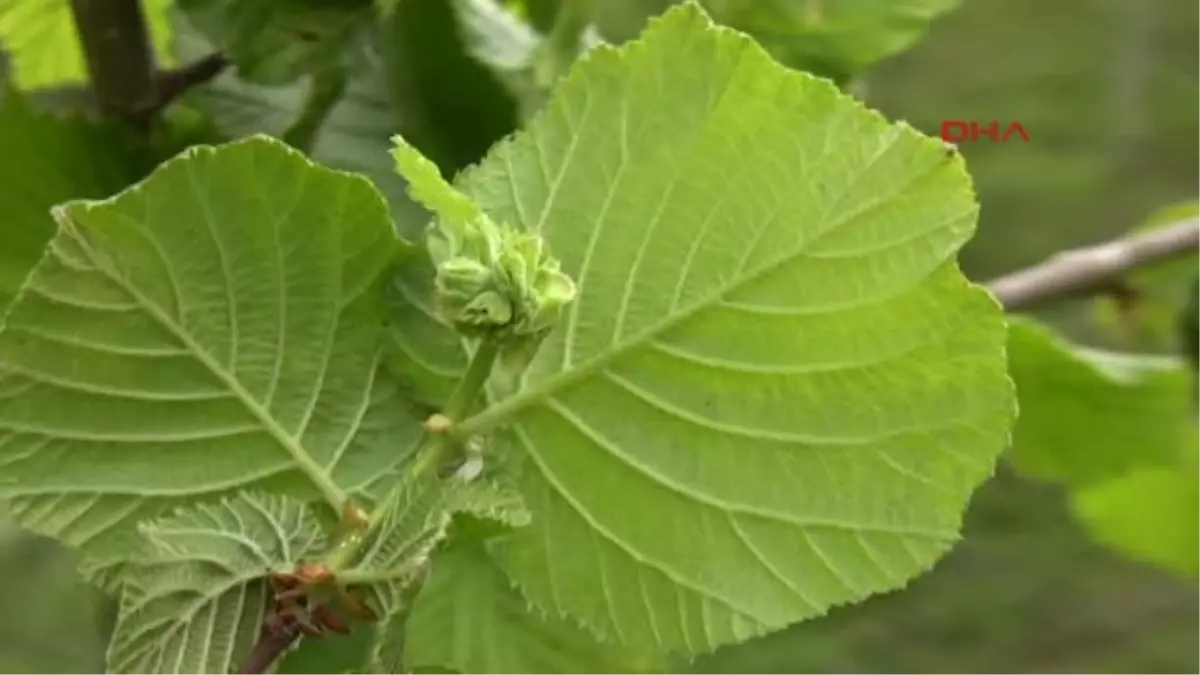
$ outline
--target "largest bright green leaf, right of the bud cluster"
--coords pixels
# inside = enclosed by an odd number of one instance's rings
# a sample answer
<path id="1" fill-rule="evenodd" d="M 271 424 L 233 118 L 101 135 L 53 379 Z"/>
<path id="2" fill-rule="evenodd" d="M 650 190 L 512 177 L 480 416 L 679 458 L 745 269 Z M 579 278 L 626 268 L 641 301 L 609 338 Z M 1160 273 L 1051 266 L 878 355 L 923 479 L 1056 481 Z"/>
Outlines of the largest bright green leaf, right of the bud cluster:
<path id="1" fill-rule="evenodd" d="M 457 426 L 518 440 L 532 521 L 493 552 L 536 605 L 704 651 L 953 545 L 1015 411 L 940 142 L 689 4 L 592 52 L 458 186 L 580 289 L 524 387 Z"/>

